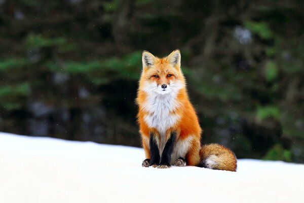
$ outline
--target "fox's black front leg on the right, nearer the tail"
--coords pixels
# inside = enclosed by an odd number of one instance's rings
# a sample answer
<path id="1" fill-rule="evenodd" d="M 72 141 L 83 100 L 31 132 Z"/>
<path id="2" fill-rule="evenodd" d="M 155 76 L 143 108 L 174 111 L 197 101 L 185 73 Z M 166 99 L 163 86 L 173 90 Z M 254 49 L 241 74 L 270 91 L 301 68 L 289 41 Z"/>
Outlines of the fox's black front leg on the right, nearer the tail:
<path id="1" fill-rule="evenodd" d="M 171 162 L 171 154 L 173 151 L 173 147 L 174 147 L 174 143 L 175 143 L 175 139 L 176 139 L 176 132 L 173 131 L 170 134 L 170 138 L 167 141 L 164 151 L 162 153 L 162 157 L 161 157 L 161 162 L 159 165 L 159 168 L 168 168 L 170 167 L 170 162 Z"/>

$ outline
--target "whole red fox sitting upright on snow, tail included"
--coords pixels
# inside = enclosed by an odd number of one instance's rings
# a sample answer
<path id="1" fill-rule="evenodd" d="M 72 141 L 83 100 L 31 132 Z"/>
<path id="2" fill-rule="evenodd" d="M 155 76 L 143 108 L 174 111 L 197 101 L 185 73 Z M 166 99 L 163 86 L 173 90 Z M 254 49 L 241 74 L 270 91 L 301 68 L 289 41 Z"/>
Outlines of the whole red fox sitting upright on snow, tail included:
<path id="1" fill-rule="evenodd" d="M 237 160 L 230 149 L 219 144 L 201 146 L 202 129 L 189 101 L 180 58 L 178 49 L 163 58 L 142 52 L 136 98 L 146 157 L 142 166 L 193 165 L 235 172 Z"/>

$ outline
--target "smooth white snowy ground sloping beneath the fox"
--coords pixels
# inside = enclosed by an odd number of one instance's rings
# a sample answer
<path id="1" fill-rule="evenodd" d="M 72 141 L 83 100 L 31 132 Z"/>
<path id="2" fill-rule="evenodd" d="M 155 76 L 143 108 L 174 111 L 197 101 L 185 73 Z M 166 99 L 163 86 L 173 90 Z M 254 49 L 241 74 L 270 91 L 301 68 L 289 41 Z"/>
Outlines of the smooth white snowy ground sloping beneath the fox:
<path id="1" fill-rule="evenodd" d="M 143 168 L 142 149 L 0 132 L 0 202 L 304 202 L 304 165 Z"/>

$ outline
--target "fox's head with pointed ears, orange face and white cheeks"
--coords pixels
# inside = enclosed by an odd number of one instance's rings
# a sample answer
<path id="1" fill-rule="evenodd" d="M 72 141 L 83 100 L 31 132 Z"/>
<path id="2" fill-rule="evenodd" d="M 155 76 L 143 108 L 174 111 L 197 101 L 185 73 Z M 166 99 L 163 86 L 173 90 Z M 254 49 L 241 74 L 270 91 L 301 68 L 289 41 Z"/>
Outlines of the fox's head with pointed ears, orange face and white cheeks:
<path id="1" fill-rule="evenodd" d="M 148 51 L 142 52 L 140 88 L 147 93 L 177 94 L 185 87 L 180 69 L 180 51 L 174 50 L 166 57 L 158 58 Z"/>

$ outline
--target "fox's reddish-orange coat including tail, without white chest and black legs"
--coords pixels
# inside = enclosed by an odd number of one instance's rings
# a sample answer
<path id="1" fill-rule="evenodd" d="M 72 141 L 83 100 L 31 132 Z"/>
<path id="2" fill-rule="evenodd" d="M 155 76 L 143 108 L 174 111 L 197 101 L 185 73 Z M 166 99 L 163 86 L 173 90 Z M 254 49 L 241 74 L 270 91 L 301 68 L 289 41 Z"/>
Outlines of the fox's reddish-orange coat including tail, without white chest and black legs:
<path id="1" fill-rule="evenodd" d="M 177 108 L 173 108 L 169 112 L 169 115 L 166 115 L 168 117 L 170 115 L 177 115 L 179 119 L 177 119 L 172 126 L 166 128 L 166 139 L 168 139 L 171 131 L 176 131 L 176 142 L 188 142 L 186 145 L 187 153 L 185 157 L 183 157 L 186 159 L 187 165 L 198 165 L 200 162 L 201 164 L 206 162 L 207 167 L 209 163 L 212 163 L 210 168 L 213 169 L 236 171 L 236 157 L 231 150 L 218 144 L 204 145 L 201 147 L 202 129 L 199 125 L 196 111 L 187 95 L 186 82 L 180 69 L 179 50 L 175 50 L 169 56 L 163 58 L 155 57 L 151 53 L 144 51 L 142 60 L 143 69 L 136 101 L 139 106 L 137 118 L 146 158 L 150 158 L 149 132 L 154 132 L 161 137 L 158 129 L 149 126 L 145 119 L 146 116 L 151 114 L 151 112 L 145 108 L 148 94 L 151 94 L 146 86 L 147 84 L 157 84 L 157 86 L 161 86 L 162 84 L 170 85 L 179 82 L 182 85 L 180 85 L 175 95 L 175 99 L 179 105 Z M 189 137 L 191 137 L 190 140 L 187 139 Z"/>

